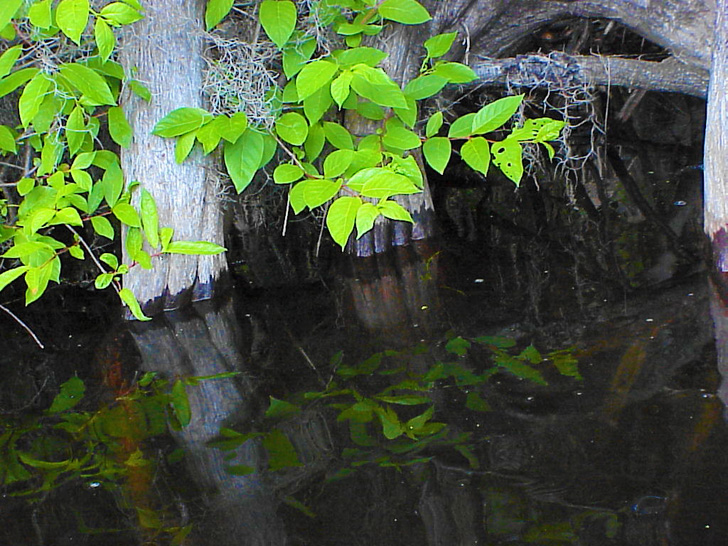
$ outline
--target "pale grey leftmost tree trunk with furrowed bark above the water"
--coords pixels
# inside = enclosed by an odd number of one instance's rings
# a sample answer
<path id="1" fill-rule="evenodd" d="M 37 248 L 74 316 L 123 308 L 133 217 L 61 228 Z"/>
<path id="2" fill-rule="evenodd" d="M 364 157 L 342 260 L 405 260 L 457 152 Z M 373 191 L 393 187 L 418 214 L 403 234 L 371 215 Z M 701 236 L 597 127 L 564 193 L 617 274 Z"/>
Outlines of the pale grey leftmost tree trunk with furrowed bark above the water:
<path id="1" fill-rule="evenodd" d="M 174 229 L 174 240 L 223 243 L 217 180 L 199 151 L 178 165 L 175 139 L 151 134 L 154 125 L 179 107 L 202 107 L 202 0 L 149 0 L 146 17 L 124 36 L 120 56 L 128 74 L 152 94 L 145 102 L 128 90 L 124 106 L 134 139 L 121 152 L 126 182 L 137 180 L 157 203 L 161 227 Z M 149 249 L 147 249 L 149 251 Z M 125 262 L 129 263 L 125 251 Z M 146 312 L 180 307 L 211 296 L 214 281 L 226 269 L 224 255 L 165 254 L 152 259 L 154 269 L 136 266 L 124 283 Z"/>

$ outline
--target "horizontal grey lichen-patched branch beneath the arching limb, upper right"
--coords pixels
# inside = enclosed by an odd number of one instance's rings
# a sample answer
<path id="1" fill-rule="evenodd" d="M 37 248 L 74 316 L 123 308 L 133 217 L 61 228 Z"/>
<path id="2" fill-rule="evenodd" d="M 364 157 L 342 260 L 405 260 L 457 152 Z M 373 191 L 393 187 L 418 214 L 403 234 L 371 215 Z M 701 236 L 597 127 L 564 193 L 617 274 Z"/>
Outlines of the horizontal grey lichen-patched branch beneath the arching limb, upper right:
<path id="1" fill-rule="evenodd" d="M 519 55 L 510 59 L 478 58 L 471 62 L 476 84 L 569 88 L 579 85 L 620 86 L 683 93 L 706 98 L 708 73 L 675 59 L 662 62 L 614 56 Z"/>

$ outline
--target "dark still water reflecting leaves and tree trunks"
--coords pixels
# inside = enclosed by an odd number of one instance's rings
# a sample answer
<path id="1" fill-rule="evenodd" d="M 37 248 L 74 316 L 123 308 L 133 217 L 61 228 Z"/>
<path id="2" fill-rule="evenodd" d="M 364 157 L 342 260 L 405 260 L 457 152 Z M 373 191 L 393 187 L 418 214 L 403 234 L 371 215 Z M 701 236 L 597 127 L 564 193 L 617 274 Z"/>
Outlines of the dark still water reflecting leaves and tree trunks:
<path id="1" fill-rule="evenodd" d="M 46 350 L 3 325 L 0 544 L 728 544 L 705 280 L 541 324 L 479 281 L 368 328 L 323 286 L 128 329 L 52 296 Z"/>

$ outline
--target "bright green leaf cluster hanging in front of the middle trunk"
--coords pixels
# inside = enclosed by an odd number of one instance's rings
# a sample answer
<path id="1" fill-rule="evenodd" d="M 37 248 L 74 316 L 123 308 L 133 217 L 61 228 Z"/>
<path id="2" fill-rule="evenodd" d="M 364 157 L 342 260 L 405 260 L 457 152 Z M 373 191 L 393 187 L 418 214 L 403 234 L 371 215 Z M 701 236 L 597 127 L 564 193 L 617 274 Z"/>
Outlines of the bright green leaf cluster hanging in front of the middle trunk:
<path id="1" fill-rule="evenodd" d="M 485 176 L 492 162 L 516 184 L 523 174 L 521 143 L 542 143 L 549 154 L 553 153 L 547 141 L 558 138 L 563 127 L 560 121 L 528 120 L 516 129 L 516 137 L 502 141 L 486 136 L 494 131 L 507 132 L 504 126 L 519 110 L 522 95 L 505 97 L 456 119 L 447 136 L 438 136 L 444 117 L 437 112 L 427 122 L 423 136 L 417 102 L 449 84 L 476 79 L 468 66 L 441 60 L 457 40 L 457 33 L 433 36 L 424 42 L 426 55 L 420 74 L 402 89 L 380 66 L 387 54 L 362 46 L 362 37 L 380 33 L 385 24 L 429 21 L 427 9 L 416 0 L 326 0 L 322 5 L 330 10 L 326 12 L 327 22 L 347 47 L 323 51 L 313 39 L 300 38 L 298 13 L 290 0 L 260 3 L 260 24 L 282 50 L 283 72 L 288 79 L 279 93 L 282 108 L 274 130 L 244 127 L 236 135 L 239 138 L 226 139 L 216 134 L 218 120 L 225 116 L 213 118 L 204 111 L 183 107 L 160 120 L 155 129 L 160 136 L 178 138 L 179 161 L 187 157 L 195 142 L 210 153 L 221 138 L 225 139 L 225 165 L 241 192 L 275 149 L 285 148 L 286 156 L 293 159 L 274 170 L 274 182 L 288 185 L 289 203 L 296 214 L 327 206 L 326 226 L 332 239 L 344 248 L 354 228 L 361 237 L 380 217 L 412 222 L 411 215 L 393 198 L 422 191 L 423 176 L 414 159 L 420 148 L 430 167 L 442 174 L 452 155 L 451 141 L 464 139 L 460 154 L 466 164 Z M 227 0 L 209 0 L 208 28 L 229 10 Z M 380 128 L 368 135 L 352 135 L 335 121 L 342 119 L 338 116 L 342 110 L 378 122 Z M 270 154 L 266 150 L 271 150 Z"/>

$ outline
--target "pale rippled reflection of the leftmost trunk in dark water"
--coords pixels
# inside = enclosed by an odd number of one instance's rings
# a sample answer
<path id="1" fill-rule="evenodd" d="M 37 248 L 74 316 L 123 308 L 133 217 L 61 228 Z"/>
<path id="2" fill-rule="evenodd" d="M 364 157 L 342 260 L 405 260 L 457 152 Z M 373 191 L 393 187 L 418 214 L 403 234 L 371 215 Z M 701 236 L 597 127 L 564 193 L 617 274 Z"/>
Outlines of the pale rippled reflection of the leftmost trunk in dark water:
<path id="1" fill-rule="evenodd" d="M 170 377 L 213 375 L 242 371 L 239 332 L 232 304 L 216 309 L 208 302 L 196 306 L 199 314 L 172 313 L 164 322 L 133 325 L 133 336 L 142 354 L 143 367 Z M 238 448 L 234 461 L 207 447 L 219 435 L 220 426 L 232 426 L 251 418 L 254 386 L 244 375 L 201 381 L 188 387 L 192 420 L 174 433 L 185 450 L 190 474 L 208 495 L 209 512 L 200 525 L 204 543 L 270 545 L 285 544 L 285 532 L 276 517 L 273 491 L 260 471 L 264 452 L 257 440 Z M 228 464 L 256 469 L 234 476 Z M 208 542 L 209 541 L 209 542 Z"/>

